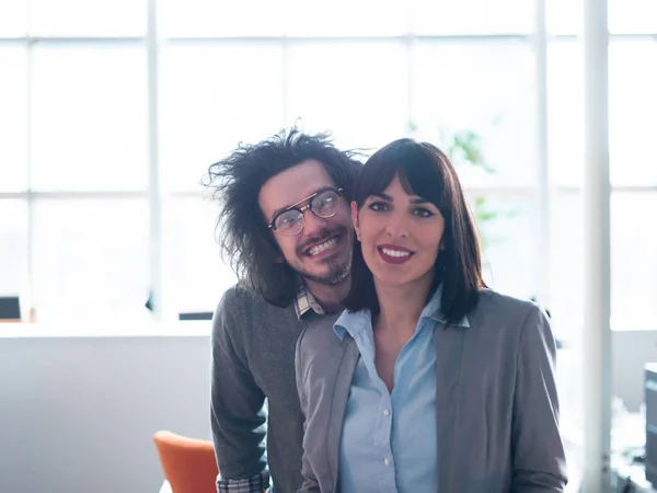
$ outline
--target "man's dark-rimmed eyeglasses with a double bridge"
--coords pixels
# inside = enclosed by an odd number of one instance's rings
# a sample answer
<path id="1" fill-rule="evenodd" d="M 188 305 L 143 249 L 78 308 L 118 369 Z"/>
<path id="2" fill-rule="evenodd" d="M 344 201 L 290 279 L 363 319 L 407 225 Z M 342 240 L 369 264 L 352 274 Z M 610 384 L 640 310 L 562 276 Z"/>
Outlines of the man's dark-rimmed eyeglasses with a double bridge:
<path id="1" fill-rule="evenodd" d="M 278 231 L 286 237 L 299 234 L 303 229 L 303 213 L 310 209 L 318 217 L 327 218 L 335 216 L 342 193 L 342 188 L 320 190 L 310 197 L 306 197 L 303 200 L 299 200 L 297 204 L 292 204 L 287 209 L 278 213 L 268 227 L 272 231 Z M 304 202 L 308 204 L 299 206 L 299 204 L 303 204 Z"/>

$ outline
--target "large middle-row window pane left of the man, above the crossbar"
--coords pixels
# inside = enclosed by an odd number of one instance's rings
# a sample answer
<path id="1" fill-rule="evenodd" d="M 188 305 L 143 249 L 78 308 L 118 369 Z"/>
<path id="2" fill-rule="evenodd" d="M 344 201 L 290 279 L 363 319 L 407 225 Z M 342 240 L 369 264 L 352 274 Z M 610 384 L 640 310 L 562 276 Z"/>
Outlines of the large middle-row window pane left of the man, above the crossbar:
<path id="1" fill-rule="evenodd" d="M 44 45 L 33 58 L 32 187 L 146 190 L 145 53 Z"/>

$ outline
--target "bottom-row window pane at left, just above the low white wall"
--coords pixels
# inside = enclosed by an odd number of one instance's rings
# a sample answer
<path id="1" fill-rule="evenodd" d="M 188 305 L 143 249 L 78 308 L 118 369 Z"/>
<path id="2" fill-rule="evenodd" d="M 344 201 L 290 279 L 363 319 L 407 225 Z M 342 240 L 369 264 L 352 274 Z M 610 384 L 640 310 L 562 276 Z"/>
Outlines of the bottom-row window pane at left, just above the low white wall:
<path id="1" fill-rule="evenodd" d="M 33 206 L 38 320 L 143 318 L 150 287 L 146 200 L 43 198 Z"/>

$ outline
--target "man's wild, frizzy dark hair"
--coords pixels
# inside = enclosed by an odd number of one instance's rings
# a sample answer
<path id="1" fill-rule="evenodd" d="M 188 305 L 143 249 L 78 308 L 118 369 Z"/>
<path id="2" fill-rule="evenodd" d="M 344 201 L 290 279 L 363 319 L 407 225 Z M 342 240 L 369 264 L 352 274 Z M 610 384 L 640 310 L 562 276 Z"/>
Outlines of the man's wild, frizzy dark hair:
<path id="1" fill-rule="evenodd" d="M 361 168 L 356 152 L 341 151 L 327 134 L 280 130 L 255 145 L 241 144 L 227 158 L 210 165 L 201 184 L 220 202 L 216 225 L 221 257 L 240 283 L 255 289 L 273 305 L 288 306 L 297 296 L 298 274 L 280 262 L 280 250 L 265 223 L 258 204 L 264 183 L 308 159 L 320 161 L 345 199 L 354 197 Z"/>

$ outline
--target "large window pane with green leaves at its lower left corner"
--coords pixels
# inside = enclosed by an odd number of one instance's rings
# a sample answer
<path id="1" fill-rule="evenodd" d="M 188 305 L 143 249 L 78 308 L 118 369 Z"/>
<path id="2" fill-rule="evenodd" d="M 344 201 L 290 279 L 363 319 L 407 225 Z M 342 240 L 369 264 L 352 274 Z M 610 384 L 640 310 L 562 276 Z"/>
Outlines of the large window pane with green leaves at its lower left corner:
<path id="1" fill-rule="evenodd" d="M 413 51 L 413 119 L 418 137 L 440 130 L 482 136 L 495 174 L 466 169 L 465 186 L 531 186 L 535 179 L 534 81 L 526 42 L 418 42 Z"/>

